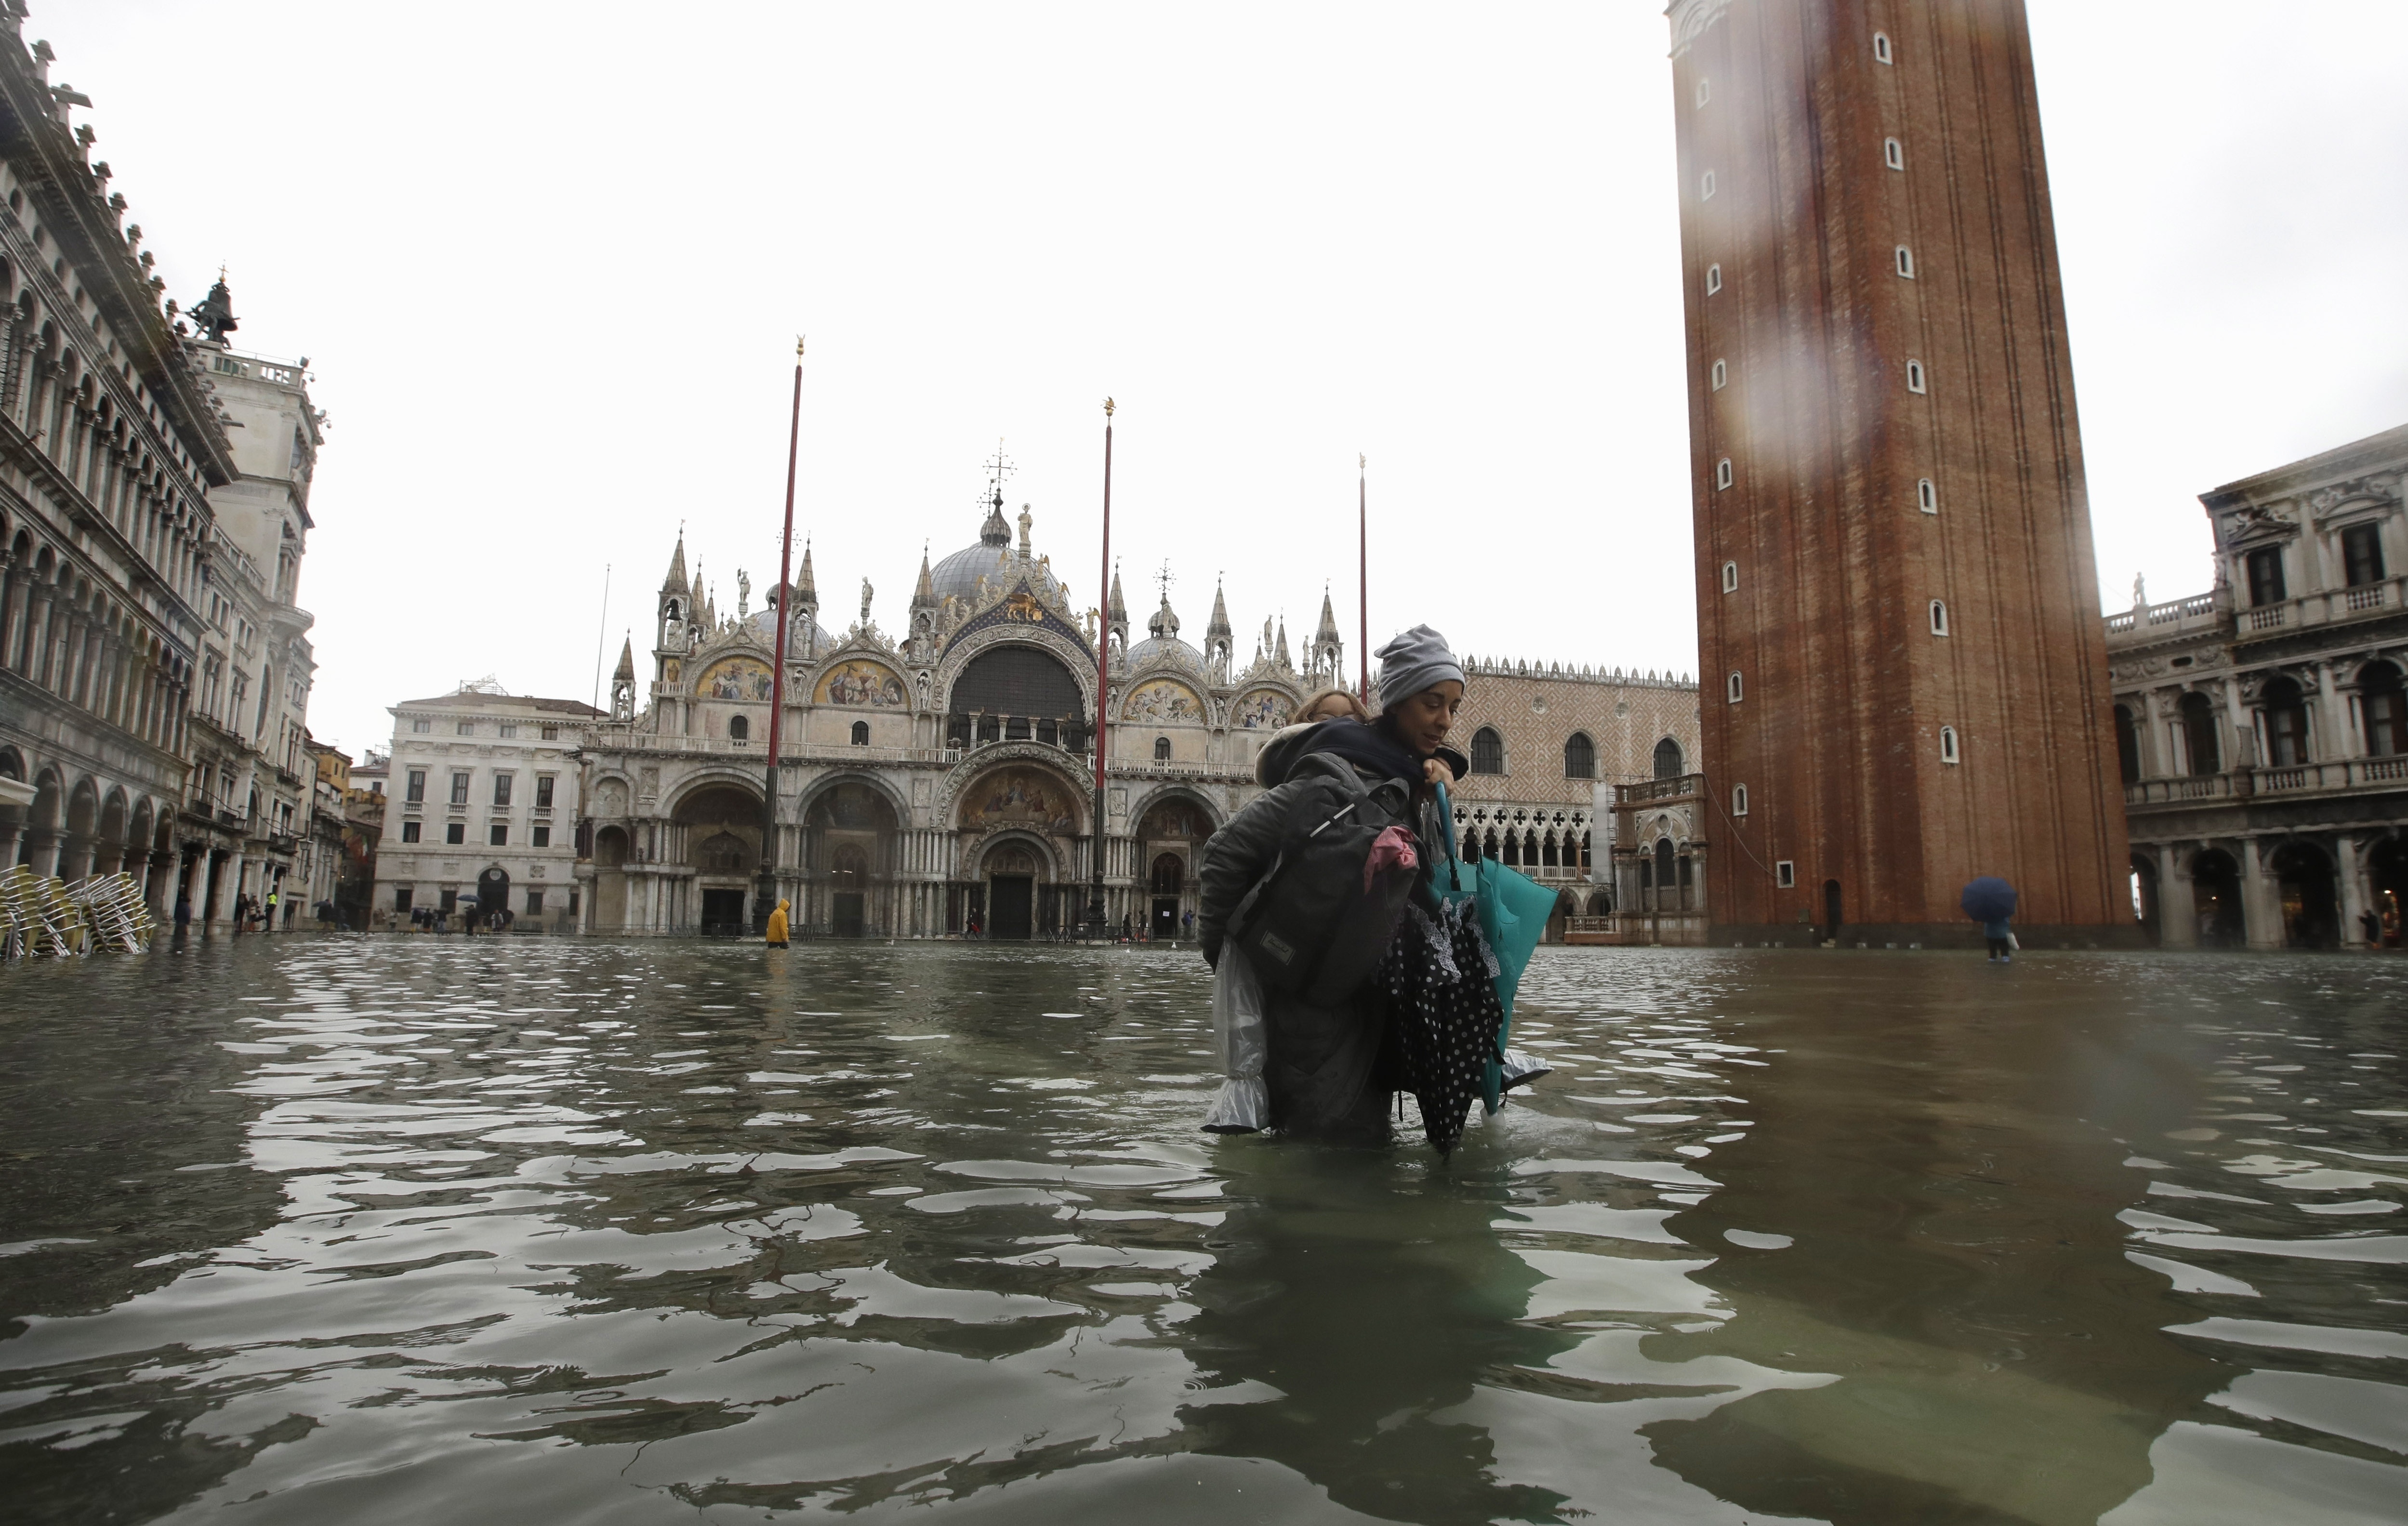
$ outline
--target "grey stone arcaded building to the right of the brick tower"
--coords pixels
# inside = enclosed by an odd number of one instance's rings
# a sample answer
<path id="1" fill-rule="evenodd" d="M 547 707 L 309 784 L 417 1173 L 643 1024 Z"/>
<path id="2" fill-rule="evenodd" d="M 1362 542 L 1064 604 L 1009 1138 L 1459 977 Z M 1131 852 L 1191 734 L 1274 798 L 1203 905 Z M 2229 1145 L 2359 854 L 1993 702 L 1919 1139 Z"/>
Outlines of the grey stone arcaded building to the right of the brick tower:
<path id="1" fill-rule="evenodd" d="M 2201 493 L 2215 587 L 2136 587 L 2107 616 L 2133 895 L 2160 944 L 2401 946 L 2403 498 L 2408 426 Z"/>

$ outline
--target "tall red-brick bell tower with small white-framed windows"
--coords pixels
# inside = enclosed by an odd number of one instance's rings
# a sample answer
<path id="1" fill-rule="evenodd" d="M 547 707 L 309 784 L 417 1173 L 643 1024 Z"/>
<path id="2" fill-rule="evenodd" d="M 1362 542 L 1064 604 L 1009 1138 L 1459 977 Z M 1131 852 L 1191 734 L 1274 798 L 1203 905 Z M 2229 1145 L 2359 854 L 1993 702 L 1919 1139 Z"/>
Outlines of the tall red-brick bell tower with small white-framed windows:
<path id="1" fill-rule="evenodd" d="M 1722 941 L 2131 922 L 2020 0 L 1674 0 Z"/>

